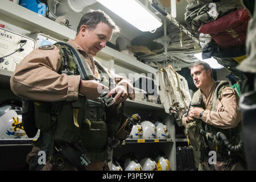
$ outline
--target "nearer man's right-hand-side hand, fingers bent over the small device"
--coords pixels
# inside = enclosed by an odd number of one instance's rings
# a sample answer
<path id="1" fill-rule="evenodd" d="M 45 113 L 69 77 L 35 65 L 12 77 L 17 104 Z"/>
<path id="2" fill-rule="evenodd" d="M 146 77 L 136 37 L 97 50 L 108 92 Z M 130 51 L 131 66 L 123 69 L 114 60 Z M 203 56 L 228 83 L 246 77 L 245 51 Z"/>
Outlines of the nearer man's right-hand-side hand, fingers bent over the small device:
<path id="1" fill-rule="evenodd" d="M 109 98 L 110 96 L 114 95 L 115 104 L 119 104 L 121 102 L 124 102 L 127 97 L 127 86 L 126 85 L 119 85 L 116 86 L 114 89 L 110 90 L 110 92 L 106 95 L 106 98 Z"/>

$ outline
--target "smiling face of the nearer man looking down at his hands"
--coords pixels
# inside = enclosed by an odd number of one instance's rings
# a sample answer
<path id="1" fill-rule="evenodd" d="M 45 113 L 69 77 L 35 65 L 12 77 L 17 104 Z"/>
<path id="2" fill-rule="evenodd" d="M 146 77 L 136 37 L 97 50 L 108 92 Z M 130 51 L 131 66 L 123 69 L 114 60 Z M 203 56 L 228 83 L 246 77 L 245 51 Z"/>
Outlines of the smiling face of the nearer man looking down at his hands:
<path id="1" fill-rule="evenodd" d="M 85 25 L 82 25 L 81 29 L 82 33 L 84 33 L 81 47 L 93 56 L 106 46 L 106 42 L 111 39 L 113 34 L 113 29 L 102 22 L 98 23 L 95 29 L 89 29 Z"/>

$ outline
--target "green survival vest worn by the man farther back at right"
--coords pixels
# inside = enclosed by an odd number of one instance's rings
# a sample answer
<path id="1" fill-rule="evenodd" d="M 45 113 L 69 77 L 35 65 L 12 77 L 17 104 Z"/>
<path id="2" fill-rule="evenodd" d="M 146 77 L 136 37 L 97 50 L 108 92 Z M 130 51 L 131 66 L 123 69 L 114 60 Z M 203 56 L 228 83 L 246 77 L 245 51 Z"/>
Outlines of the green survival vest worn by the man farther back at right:
<path id="1" fill-rule="evenodd" d="M 222 90 L 229 86 L 228 81 L 217 81 L 216 84 L 217 87 L 213 93 L 212 106 L 210 109 L 212 111 L 217 110 L 217 100 L 221 96 Z M 200 90 L 194 93 L 191 106 L 206 109 Z M 189 142 L 193 150 L 197 151 L 195 153 L 200 153 L 200 159 L 196 163 L 200 163 L 203 160 L 208 162 L 209 151 L 216 151 L 217 160 L 224 160 L 225 156 L 228 155 L 228 148 L 224 144 L 224 141 L 217 138 L 218 132 L 223 133 L 230 143 L 236 144 L 240 141 L 241 124 L 238 124 L 234 129 L 220 129 L 201 121 L 201 119 L 196 119 L 186 125 L 186 134 Z"/>

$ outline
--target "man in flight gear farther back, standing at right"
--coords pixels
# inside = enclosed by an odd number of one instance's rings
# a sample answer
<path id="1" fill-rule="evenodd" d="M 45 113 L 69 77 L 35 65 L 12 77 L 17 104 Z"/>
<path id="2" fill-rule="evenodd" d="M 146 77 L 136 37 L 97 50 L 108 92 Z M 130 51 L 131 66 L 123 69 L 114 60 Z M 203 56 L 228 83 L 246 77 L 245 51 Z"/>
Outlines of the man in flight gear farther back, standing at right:
<path id="1" fill-rule="evenodd" d="M 229 87 L 228 81 L 214 81 L 212 69 L 203 61 L 192 64 L 190 69 L 199 89 L 193 94 L 182 121 L 198 169 L 244 170 L 246 164 L 236 90 Z"/>

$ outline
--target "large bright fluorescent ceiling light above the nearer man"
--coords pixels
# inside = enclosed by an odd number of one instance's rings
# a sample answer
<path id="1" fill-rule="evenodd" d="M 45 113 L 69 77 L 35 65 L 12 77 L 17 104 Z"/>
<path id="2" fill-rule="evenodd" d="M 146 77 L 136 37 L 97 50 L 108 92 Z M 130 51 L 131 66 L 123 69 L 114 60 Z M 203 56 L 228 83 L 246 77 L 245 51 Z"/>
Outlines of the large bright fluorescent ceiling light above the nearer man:
<path id="1" fill-rule="evenodd" d="M 162 26 L 161 20 L 138 0 L 97 1 L 143 32 Z"/>

